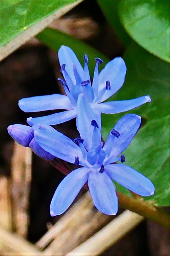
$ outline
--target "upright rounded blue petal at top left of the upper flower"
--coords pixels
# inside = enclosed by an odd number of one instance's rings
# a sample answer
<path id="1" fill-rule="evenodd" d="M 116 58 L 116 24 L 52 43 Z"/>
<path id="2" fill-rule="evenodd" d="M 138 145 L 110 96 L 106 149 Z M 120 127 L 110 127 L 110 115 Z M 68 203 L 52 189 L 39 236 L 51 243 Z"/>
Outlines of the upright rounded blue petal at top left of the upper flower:
<path id="1" fill-rule="evenodd" d="M 62 45 L 58 51 L 58 58 L 60 62 L 60 66 L 65 64 L 65 69 L 69 76 L 71 77 L 74 84 L 76 84 L 74 71 L 73 71 L 73 64 L 76 65 L 77 71 L 79 72 L 79 75 L 81 79 L 84 79 L 84 69 L 82 68 L 79 60 L 77 59 L 75 53 L 73 50 L 71 50 L 68 46 Z M 64 76 L 64 72 L 63 72 Z"/>

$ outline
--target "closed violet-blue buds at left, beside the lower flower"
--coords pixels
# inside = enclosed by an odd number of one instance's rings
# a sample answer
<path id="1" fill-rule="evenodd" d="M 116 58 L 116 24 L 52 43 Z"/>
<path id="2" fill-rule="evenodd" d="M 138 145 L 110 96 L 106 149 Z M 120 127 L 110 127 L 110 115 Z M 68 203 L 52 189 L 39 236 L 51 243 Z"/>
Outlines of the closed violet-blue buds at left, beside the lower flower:
<path id="1" fill-rule="evenodd" d="M 36 139 L 34 138 L 34 130 L 39 127 L 41 127 L 41 125 L 38 124 L 32 127 L 20 124 L 10 125 L 8 126 L 8 133 L 20 145 L 30 147 L 39 157 L 45 160 L 53 160 L 55 157 L 44 151 L 44 149 L 37 144 Z M 51 129 L 51 126 L 48 126 L 48 129 Z"/>

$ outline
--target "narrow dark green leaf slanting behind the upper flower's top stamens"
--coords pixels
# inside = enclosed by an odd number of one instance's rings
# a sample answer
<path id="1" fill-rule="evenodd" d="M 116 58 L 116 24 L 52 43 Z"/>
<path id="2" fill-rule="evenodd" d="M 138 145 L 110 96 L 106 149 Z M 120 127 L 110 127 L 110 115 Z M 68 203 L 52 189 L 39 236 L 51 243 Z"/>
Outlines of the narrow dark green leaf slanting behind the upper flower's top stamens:
<path id="1" fill-rule="evenodd" d="M 100 65 L 100 68 L 103 68 L 105 64 L 109 61 L 104 54 L 100 53 L 98 50 L 94 49 L 93 47 L 87 45 L 83 41 L 76 39 L 73 36 L 69 36 L 65 33 L 62 33 L 58 30 L 53 28 L 46 28 L 37 36 L 37 39 L 42 41 L 44 44 L 48 45 L 52 50 L 58 52 L 61 45 L 67 45 L 77 55 L 77 58 L 80 60 L 81 64 L 84 65 L 83 55 L 86 53 L 89 56 L 89 69 L 91 76 L 94 72 L 95 67 L 95 58 L 99 57 L 103 59 L 103 64 Z"/>

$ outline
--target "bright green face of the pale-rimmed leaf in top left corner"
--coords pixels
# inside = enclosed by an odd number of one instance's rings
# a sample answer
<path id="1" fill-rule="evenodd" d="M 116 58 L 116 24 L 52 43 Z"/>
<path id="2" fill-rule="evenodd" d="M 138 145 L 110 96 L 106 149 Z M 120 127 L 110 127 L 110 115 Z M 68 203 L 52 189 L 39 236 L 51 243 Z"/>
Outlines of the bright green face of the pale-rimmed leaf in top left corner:
<path id="1" fill-rule="evenodd" d="M 0 46 L 76 0 L 1 0 Z"/>

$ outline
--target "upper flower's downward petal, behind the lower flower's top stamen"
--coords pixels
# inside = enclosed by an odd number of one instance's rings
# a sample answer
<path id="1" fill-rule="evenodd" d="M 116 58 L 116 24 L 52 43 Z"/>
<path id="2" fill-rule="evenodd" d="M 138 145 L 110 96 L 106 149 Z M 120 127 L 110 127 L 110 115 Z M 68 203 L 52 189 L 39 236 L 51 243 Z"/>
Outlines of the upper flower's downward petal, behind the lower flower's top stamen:
<path id="1" fill-rule="evenodd" d="M 92 120 L 95 120 L 98 123 L 99 129 L 97 130 L 99 136 L 101 136 L 100 113 L 94 113 L 94 110 L 90 107 L 90 104 L 85 99 L 84 95 L 80 94 L 77 100 L 77 130 L 79 131 L 81 138 L 84 139 L 84 145 L 88 151 L 91 149 L 93 137 L 93 126 L 91 125 Z"/>

